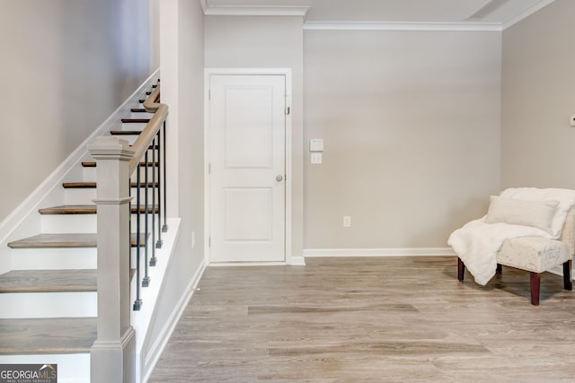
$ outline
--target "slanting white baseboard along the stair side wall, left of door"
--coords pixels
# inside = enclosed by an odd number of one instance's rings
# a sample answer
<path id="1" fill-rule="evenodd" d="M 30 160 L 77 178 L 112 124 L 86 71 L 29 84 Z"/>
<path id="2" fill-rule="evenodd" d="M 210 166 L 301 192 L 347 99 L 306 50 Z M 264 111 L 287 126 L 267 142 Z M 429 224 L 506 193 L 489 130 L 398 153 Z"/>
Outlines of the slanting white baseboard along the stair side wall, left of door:
<path id="1" fill-rule="evenodd" d="M 205 270 L 206 260 L 202 259 L 198 270 L 196 270 L 196 273 L 191 278 L 188 287 L 181 295 L 180 300 L 178 300 L 178 303 L 168 317 L 168 320 L 166 320 L 164 327 L 160 331 L 160 335 L 158 335 L 157 339 L 155 340 L 154 344 L 152 344 L 149 352 L 146 355 L 146 361 L 144 361 L 144 369 L 142 370 L 143 379 L 140 380 L 141 382 L 146 383 L 147 380 L 150 379 L 150 375 L 152 375 L 155 364 L 158 362 L 160 356 L 164 352 L 164 348 L 166 344 L 168 344 L 170 336 L 172 336 L 173 330 L 180 321 L 181 315 L 188 306 L 193 293 L 196 291 L 199 280 L 201 279 L 201 276 L 204 274 Z"/>

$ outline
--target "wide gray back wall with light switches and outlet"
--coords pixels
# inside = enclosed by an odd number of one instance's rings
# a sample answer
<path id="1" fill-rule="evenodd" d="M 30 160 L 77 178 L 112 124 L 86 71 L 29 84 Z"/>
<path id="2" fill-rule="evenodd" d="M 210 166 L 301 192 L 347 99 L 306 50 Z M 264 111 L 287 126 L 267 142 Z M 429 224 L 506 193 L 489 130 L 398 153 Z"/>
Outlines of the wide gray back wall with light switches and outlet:
<path id="1" fill-rule="evenodd" d="M 445 248 L 500 189 L 499 32 L 305 31 L 305 248 Z M 350 215 L 351 228 L 342 227 Z"/>

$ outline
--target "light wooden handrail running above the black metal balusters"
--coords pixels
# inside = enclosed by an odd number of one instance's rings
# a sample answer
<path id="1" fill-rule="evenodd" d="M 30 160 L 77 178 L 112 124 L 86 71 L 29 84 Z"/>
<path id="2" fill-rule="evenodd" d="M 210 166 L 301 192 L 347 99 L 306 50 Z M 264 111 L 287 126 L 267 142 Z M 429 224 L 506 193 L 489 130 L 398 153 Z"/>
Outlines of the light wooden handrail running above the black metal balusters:
<path id="1" fill-rule="evenodd" d="M 129 172 L 132 174 L 137 168 L 138 162 L 144 156 L 147 148 L 154 141 L 155 135 L 164 124 L 165 119 L 168 117 L 168 106 L 160 100 L 160 84 L 155 87 L 155 90 L 144 101 L 144 108 L 150 113 L 154 113 L 154 117 L 150 118 L 150 122 L 142 130 L 142 133 L 137 137 L 136 142 L 132 146 L 136 151 L 134 157 L 129 161 Z"/>

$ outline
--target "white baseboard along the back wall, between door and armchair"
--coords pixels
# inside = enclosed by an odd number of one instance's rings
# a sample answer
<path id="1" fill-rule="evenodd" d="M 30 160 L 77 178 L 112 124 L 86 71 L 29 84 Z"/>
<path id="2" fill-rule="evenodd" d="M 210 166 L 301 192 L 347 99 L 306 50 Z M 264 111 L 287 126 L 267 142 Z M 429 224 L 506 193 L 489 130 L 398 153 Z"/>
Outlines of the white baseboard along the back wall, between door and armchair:
<path id="1" fill-rule="evenodd" d="M 455 256 L 452 248 L 305 248 L 304 257 Z"/>

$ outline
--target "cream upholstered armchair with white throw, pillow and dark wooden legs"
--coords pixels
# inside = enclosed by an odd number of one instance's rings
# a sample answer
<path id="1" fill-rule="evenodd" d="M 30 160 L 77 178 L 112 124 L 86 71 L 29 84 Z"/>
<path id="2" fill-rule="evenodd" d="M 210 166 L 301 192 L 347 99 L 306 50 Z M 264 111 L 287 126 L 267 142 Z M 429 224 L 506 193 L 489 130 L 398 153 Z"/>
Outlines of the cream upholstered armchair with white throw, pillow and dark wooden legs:
<path id="1" fill-rule="evenodd" d="M 531 303 L 539 304 L 541 274 L 562 265 L 563 287 L 572 290 L 575 251 L 575 191 L 511 188 L 491 196 L 488 213 L 449 237 L 457 254 L 457 278 L 465 266 L 486 284 L 501 265 L 529 272 Z"/>

